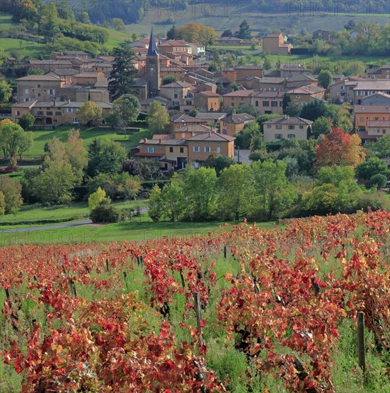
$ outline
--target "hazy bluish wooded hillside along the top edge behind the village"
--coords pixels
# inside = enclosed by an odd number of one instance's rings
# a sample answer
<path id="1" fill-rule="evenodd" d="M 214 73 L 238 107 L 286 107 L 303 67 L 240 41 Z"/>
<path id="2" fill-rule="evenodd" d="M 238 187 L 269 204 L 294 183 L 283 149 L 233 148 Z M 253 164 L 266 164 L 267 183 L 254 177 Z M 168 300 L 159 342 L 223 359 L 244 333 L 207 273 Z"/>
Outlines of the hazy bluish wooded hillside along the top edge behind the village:
<path id="1" fill-rule="evenodd" d="M 155 23 L 170 19 L 214 18 L 214 27 L 221 17 L 250 17 L 254 13 L 269 15 L 321 17 L 321 16 L 389 16 L 390 2 L 386 0 L 78 0 L 69 1 L 75 14 L 86 11 L 94 24 L 102 24 L 113 18 L 123 19 L 125 24 L 148 20 L 155 16 Z"/>

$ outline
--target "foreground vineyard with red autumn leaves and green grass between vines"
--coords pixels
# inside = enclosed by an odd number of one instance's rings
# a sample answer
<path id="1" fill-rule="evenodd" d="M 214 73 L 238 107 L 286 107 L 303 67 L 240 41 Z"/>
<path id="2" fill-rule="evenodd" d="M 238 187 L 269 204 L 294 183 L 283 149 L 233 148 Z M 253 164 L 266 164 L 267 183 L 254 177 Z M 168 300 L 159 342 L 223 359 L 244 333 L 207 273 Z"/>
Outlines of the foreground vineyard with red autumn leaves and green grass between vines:
<path id="1" fill-rule="evenodd" d="M 389 392 L 389 257 L 384 211 L 1 248 L 0 392 Z"/>

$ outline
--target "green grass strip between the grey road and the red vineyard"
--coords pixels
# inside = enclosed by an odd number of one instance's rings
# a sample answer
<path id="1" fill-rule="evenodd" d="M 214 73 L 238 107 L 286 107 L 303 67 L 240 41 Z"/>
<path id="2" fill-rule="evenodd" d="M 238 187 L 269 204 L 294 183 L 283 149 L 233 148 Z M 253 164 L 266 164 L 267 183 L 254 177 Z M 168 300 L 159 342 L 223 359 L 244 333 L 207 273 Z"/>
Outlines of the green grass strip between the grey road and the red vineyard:
<path id="1" fill-rule="evenodd" d="M 68 244 L 80 242 L 120 242 L 122 240 L 143 241 L 161 237 L 201 236 L 207 232 L 219 231 L 222 222 L 150 222 L 148 217 L 140 217 L 136 222 L 83 226 L 63 229 L 42 229 L 36 232 L 0 233 L 0 245 L 10 244 Z M 258 224 L 272 229 L 273 222 Z M 282 226 L 278 226 L 282 227 Z"/>

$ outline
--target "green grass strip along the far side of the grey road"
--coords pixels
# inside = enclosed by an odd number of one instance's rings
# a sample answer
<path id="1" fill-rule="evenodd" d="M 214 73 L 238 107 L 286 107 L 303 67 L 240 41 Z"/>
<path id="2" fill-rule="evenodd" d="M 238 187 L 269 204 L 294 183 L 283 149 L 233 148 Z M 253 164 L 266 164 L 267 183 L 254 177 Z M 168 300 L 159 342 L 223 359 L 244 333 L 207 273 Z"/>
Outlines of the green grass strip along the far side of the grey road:
<path id="1" fill-rule="evenodd" d="M 144 207 L 146 201 L 130 201 L 130 202 L 118 202 L 114 204 L 118 208 L 124 207 Z M 65 222 L 70 219 L 85 219 L 88 218 L 89 210 L 86 202 L 73 202 L 66 206 L 53 206 L 53 207 L 41 207 L 40 204 L 23 205 L 18 214 L 7 214 L 6 216 L 0 217 L 0 229 L 11 229 L 16 227 L 29 227 L 39 226 L 37 222 L 46 220 Z M 18 225 L 18 223 L 24 223 Z"/>

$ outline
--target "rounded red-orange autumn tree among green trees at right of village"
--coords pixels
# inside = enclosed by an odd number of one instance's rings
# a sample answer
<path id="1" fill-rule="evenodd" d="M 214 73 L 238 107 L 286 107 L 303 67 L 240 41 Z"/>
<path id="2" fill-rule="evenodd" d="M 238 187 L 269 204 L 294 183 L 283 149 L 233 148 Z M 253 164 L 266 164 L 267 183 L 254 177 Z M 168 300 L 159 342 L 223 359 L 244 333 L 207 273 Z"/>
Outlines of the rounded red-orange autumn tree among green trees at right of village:
<path id="1" fill-rule="evenodd" d="M 358 135 L 346 134 L 342 129 L 332 129 L 315 147 L 317 166 L 356 166 L 366 154 Z"/>

